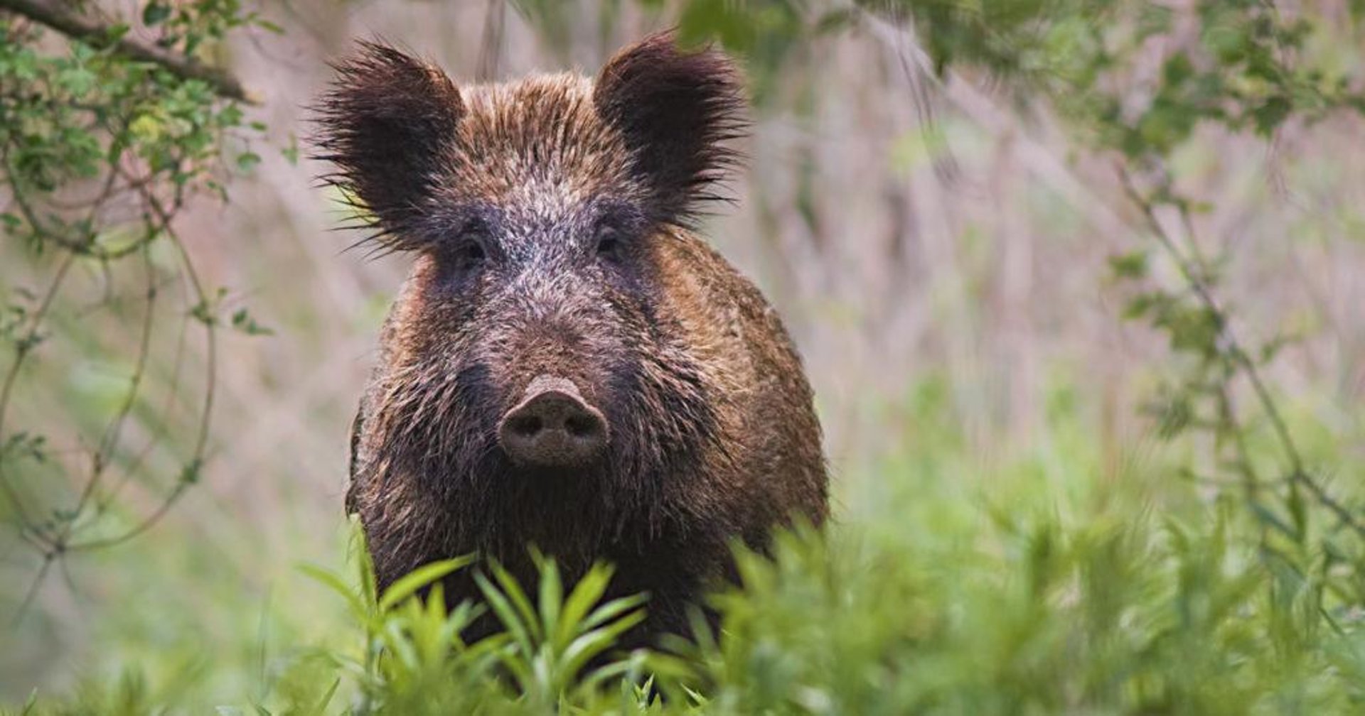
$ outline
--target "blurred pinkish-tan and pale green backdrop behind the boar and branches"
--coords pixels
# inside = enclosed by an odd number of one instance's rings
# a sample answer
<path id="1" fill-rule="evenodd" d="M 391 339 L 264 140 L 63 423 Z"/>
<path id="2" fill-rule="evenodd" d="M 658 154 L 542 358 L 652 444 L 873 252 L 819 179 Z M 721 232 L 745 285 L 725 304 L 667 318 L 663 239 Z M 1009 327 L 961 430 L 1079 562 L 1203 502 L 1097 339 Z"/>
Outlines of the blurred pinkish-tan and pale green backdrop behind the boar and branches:
<path id="1" fill-rule="evenodd" d="M 1346 4 L 1310 5 L 1330 19 Z M 139 7 L 108 4 L 126 16 Z M 220 334 L 202 475 L 146 533 L 60 559 L 35 586 L 42 554 L 10 531 L 0 537 L 0 611 L 8 619 L 31 599 L 4 629 L 0 702 L 130 663 L 158 687 L 238 693 L 280 645 L 325 640 L 334 623 L 340 604 L 295 567 L 345 558 L 349 421 L 408 259 L 347 251 L 359 236 L 334 230 L 345 213 L 318 187 L 326 168 L 306 145 L 328 61 L 358 38 L 384 38 L 460 83 L 591 75 L 644 33 L 688 22 L 681 7 L 289 0 L 261 8 L 283 33 L 248 29 L 216 49 L 259 100 L 246 117 L 268 130 L 242 139 L 259 161 L 227 181 L 231 200 L 195 198 L 175 226 L 199 280 L 227 286 L 228 310 L 248 307 L 262 330 Z M 811 18 L 823 5 L 796 7 Z M 1177 23 L 1167 41 L 1185 31 Z M 1061 513 L 1114 492 L 1179 510 L 1208 492 L 1134 472 L 1194 446 L 1162 442 L 1143 409 L 1171 353 L 1151 327 L 1118 318 L 1130 290 L 1110 259 L 1149 239 L 1117 157 L 1077 149 L 1047 106 L 988 74 L 935 74 L 916 34 L 880 16 L 749 52 L 748 162 L 706 233 L 800 348 L 841 525 L 923 531 L 1039 491 Z M 1343 40 L 1314 52 L 1360 68 L 1365 48 Z M 1209 254 L 1227 256 L 1219 295 L 1239 329 L 1298 338 L 1268 375 L 1314 426 L 1305 439 L 1331 435 L 1365 458 L 1365 123 L 1290 123 L 1269 142 L 1200 130 L 1170 168 L 1183 192 L 1209 202 L 1194 226 Z M 53 252 L 0 244 L 7 293 L 41 295 L 57 267 Z M 71 271 L 42 348 L 52 357 L 19 376 L 10 408 L 11 426 L 49 434 L 53 457 L 35 475 L 56 503 L 81 490 L 61 476 L 100 439 L 104 419 L 87 413 L 117 405 L 141 316 L 136 290 L 98 303 L 111 281 L 96 263 Z M 79 320 L 90 310 L 115 318 Z M 165 409 L 134 411 L 121 439 L 165 435 L 147 458 L 165 469 L 130 483 L 113 510 L 126 522 L 165 495 L 205 387 L 192 326 L 154 342 L 146 400 Z M 1001 477 L 1021 461 L 1043 477 Z M 210 674 L 213 663 L 243 668 Z"/>

